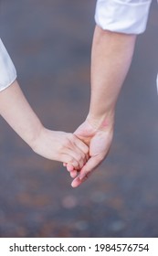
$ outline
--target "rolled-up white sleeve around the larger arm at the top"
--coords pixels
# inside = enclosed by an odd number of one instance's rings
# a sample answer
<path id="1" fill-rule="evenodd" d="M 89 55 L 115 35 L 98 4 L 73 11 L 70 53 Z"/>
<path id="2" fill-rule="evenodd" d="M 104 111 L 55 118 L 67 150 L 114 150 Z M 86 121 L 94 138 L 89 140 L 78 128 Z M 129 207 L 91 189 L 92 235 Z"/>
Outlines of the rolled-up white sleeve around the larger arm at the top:
<path id="1" fill-rule="evenodd" d="M 141 34 L 146 28 L 152 0 L 98 0 L 95 21 L 102 29 Z"/>

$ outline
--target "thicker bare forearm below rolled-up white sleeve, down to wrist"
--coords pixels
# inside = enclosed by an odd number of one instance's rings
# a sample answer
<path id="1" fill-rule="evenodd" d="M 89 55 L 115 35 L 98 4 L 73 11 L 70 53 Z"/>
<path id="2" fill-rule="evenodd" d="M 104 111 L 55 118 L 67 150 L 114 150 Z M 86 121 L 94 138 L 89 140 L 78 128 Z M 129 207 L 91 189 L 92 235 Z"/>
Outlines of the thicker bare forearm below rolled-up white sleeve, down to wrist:
<path id="1" fill-rule="evenodd" d="M 132 62 L 136 36 L 96 27 L 91 52 L 91 98 L 88 120 L 96 128 L 113 123 L 115 105 Z"/>

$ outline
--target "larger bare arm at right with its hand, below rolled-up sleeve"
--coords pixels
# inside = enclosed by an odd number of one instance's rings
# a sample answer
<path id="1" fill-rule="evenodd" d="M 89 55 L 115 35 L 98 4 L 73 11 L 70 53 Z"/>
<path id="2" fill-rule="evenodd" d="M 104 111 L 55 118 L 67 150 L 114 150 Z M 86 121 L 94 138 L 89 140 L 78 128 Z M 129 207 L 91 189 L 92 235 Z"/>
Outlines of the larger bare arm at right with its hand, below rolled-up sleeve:
<path id="1" fill-rule="evenodd" d="M 135 35 L 95 28 L 91 51 L 90 112 L 74 133 L 90 146 L 90 159 L 79 172 L 73 166 L 67 166 L 74 178 L 72 187 L 79 187 L 87 180 L 108 155 L 116 102 L 132 62 L 135 40 Z"/>

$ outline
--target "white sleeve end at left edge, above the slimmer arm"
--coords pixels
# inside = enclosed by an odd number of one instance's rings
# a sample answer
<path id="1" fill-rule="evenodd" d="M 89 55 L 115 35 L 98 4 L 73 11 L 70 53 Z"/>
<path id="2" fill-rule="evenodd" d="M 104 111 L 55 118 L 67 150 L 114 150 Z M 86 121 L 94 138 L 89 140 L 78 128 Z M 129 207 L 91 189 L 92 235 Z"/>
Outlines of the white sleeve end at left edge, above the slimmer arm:
<path id="1" fill-rule="evenodd" d="M 0 91 L 16 80 L 16 69 L 0 38 Z"/>

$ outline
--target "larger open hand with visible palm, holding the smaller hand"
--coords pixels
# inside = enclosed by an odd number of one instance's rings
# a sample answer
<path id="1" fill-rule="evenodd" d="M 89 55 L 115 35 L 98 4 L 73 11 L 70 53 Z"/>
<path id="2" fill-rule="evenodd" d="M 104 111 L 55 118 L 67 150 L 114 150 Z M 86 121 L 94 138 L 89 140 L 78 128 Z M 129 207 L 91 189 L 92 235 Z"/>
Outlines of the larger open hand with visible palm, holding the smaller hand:
<path id="1" fill-rule="evenodd" d="M 78 138 L 89 145 L 90 147 L 90 158 L 87 163 L 80 169 L 79 176 L 77 171 L 72 166 L 67 165 L 67 169 L 70 172 L 70 176 L 75 177 L 71 186 L 79 187 L 91 173 L 96 169 L 97 166 L 105 159 L 110 150 L 112 136 L 113 136 L 113 125 L 107 125 L 102 129 L 95 129 L 86 120 L 82 123 L 74 133 Z"/>

